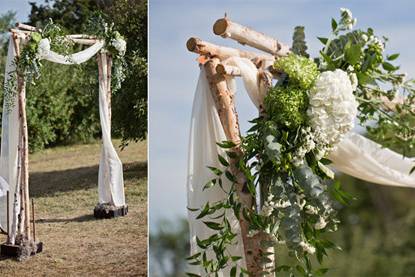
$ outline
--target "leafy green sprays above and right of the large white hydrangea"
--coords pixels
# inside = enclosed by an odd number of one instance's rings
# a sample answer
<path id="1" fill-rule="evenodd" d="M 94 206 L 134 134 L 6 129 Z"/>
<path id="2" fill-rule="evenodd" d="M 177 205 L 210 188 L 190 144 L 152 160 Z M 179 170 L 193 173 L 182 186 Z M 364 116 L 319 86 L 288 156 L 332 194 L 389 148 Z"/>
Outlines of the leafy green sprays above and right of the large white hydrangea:
<path id="1" fill-rule="evenodd" d="M 406 75 L 398 72 L 399 66 L 392 64 L 399 54 L 385 55 L 387 39 L 376 37 L 371 28 L 332 35 L 331 39 L 320 38 L 324 44 L 320 69 L 340 68 L 355 74 L 360 125 L 386 145 L 399 142 L 401 152 L 408 153 L 415 147 L 415 80 L 405 80 Z M 404 101 L 392 111 L 385 99 L 399 96 Z"/>

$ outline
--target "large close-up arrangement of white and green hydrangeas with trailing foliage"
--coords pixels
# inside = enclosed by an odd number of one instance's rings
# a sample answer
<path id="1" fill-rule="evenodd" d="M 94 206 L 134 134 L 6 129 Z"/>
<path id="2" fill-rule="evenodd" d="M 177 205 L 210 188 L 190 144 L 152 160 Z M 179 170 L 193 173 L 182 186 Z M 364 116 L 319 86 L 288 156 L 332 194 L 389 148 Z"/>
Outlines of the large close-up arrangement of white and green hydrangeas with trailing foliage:
<path id="1" fill-rule="evenodd" d="M 334 173 L 326 166 L 328 154 L 353 129 L 356 117 L 375 138 L 392 132 L 405 142 L 402 147 L 415 146 L 415 126 L 406 120 L 415 115 L 414 80 L 405 80 L 404 74 L 397 73 L 399 67 L 391 64 L 398 54 L 384 55 L 386 38 L 378 38 L 370 28 L 352 30 L 355 24 L 352 13 L 341 9 L 340 20 L 332 19 L 331 37 L 319 38 L 324 46 L 314 60 L 306 52 L 304 27 L 296 27 L 292 53 L 274 64 L 281 74 L 264 99 L 265 111 L 241 137 L 242 154 L 232 151 L 236 146 L 232 142 L 218 143 L 228 157 L 219 156 L 223 168 L 210 168 L 217 177 L 204 189 L 222 187 L 224 179 L 232 186 L 223 201 L 192 209 L 216 233 L 197 238 L 200 252 L 188 258 L 190 264 L 202 265 L 208 275 L 231 265 L 231 274 L 236 275 L 236 261 L 241 257 L 226 251 L 236 236 L 226 218 L 229 210 L 249 222 L 249 236 L 265 234 L 263 243 L 285 245 L 298 261 L 269 268 L 265 274 L 324 274 L 328 269 L 314 269 L 311 256 L 321 264 L 327 250 L 336 248 L 324 233 L 338 228 L 335 207 L 352 200 L 339 182 L 331 181 Z M 392 111 L 385 100 L 399 94 L 405 98 Z M 238 159 L 246 190 L 260 199 L 256 207 L 244 207 L 238 201 L 237 178 L 231 173 L 229 159 Z M 206 220 L 213 215 L 214 222 Z M 265 263 L 270 254 L 263 257 Z M 244 268 L 239 272 L 249 275 Z"/>

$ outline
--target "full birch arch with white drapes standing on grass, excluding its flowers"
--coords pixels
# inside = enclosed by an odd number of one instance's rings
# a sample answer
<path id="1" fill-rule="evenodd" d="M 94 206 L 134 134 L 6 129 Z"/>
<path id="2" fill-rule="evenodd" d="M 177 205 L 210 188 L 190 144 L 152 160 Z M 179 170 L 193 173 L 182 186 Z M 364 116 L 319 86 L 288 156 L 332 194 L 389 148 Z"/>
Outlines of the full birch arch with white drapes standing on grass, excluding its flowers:
<path id="1" fill-rule="evenodd" d="M 17 23 L 10 29 L 10 40 L 5 70 L 5 84 L 16 78 L 16 92 L 13 93 L 11 107 L 3 103 L 0 188 L 7 191 L 0 194 L 0 227 L 7 233 L 6 243 L 1 245 L 2 254 L 20 256 L 35 254 L 42 250 L 42 243 L 36 240 L 34 205 L 29 199 L 29 152 L 28 127 L 26 116 L 25 76 L 17 71 L 22 47 L 39 29 Z M 94 209 L 95 217 L 126 215 L 122 163 L 111 141 L 111 53 L 105 50 L 105 42 L 89 35 L 67 35 L 65 39 L 85 45 L 86 49 L 61 55 L 50 50 L 50 42 L 39 51 L 40 59 L 54 63 L 80 64 L 96 56 L 99 78 L 99 115 L 102 130 L 102 148 L 98 174 L 99 203 Z M 48 40 L 48 39 L 42 39 Z M 42 42 L 42 41 L 41 41 Z M 40 44 L 39 44 L 40 45 Z M 30 97 L 30 96 L 29 96 Z M 31 222 L 32 221 L 32 222 Z M 32 224 L 31 224 L 32 223 Z M 23 249 L 24 248 L 24 249 Z M 22 250 L 23 249 L 23 250 Z"/>

